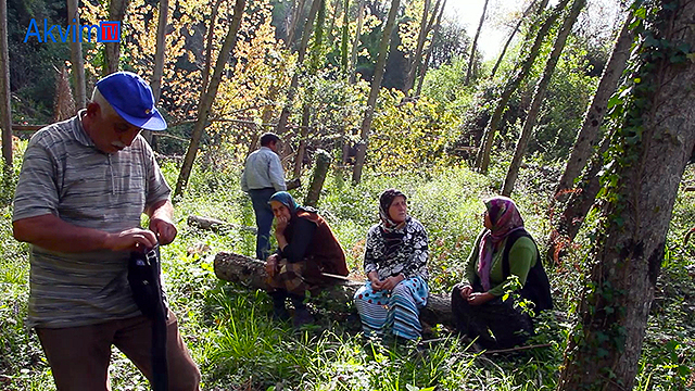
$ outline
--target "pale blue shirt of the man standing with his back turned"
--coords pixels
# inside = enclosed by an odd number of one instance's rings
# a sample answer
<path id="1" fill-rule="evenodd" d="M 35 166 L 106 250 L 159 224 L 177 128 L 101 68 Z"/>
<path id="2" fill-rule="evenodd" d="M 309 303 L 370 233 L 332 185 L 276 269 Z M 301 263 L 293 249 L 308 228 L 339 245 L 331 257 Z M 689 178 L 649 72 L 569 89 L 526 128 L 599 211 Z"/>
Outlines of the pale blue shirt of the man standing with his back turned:
<path id="1" fill-rule="evenodd" d="M 285 172 L 277 153 L 268 147 L 261 147 L 247 159 L 241 175 L 241 190 L 275 188 L 275 191 L 287 190 Z"/>

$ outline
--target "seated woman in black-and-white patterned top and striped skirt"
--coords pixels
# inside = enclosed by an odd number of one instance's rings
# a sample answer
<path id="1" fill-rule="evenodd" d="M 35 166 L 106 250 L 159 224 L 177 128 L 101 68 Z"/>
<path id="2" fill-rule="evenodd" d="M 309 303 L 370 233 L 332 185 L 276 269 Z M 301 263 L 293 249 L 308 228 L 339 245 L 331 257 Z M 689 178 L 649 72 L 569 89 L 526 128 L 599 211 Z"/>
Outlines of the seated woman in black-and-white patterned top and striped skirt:
<path id="1" fill-rule="evenodd" d="M 395 189 L 379 198 L 379 217 L 367 234 L 367 282 L 355 292 L 355 306 L 366 335 L 417 339 L 419 308 L 429 293 L 427 232 L 408 216 L 406 197 Z"/>

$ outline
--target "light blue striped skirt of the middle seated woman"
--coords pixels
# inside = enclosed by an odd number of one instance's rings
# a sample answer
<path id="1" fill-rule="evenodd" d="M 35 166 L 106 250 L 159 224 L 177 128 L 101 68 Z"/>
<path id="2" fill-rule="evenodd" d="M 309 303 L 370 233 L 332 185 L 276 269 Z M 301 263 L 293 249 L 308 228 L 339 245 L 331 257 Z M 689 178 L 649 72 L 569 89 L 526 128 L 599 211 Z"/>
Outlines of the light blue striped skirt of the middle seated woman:
<path id="1" fill-rule="evenodd" d="M 403 280 L 392 291 L 375 291 L 367 280 L 354 297 L 365 333 L 419 338 L 422 332 L 419 308 L 427 305 L 428 294 L 429 287 L 420 277 Z"/>

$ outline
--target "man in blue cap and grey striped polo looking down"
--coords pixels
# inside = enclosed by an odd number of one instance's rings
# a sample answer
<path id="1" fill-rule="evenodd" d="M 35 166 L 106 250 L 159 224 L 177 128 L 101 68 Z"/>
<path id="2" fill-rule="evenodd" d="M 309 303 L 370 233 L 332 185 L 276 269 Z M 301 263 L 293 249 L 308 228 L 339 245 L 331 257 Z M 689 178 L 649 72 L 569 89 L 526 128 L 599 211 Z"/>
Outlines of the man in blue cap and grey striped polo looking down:
<path id="1" fill-rule="evenodd" d="M 150 87 L 118 72 L 97 83 L 86 110 L 28 143 L 13 230 L 31 244 L 28 326 L 58 390 L 109 390 L 112 345 L 152 379 L 152 320 L 132 299 L 127 263 L 131 251 L 177 234 L 170 188 L 139 135 L 165 128 Z M 166 329 L 169 390 L 199 390 L 200 371 L 170 311 Z"/>

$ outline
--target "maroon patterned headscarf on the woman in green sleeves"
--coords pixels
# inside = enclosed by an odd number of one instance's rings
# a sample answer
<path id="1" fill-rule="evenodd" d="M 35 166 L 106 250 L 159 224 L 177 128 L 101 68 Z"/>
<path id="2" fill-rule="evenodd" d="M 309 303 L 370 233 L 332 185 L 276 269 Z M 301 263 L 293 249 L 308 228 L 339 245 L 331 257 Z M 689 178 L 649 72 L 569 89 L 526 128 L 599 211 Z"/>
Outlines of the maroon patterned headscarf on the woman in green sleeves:
<path id="1" fill-rule="evenodd" d="M 492 229 L 485 231 L 480 241 L 480 261 L 478 263 L 478 275 L 484 291 L 490 290 L 490 268 L 492 266 L 492 255 L 498 250 L 497 247 L 506 237 L 515 230 L 523 228 L 523 218 L 517 205 L 509 198 L 497 195 L 483 200 Z"/>

